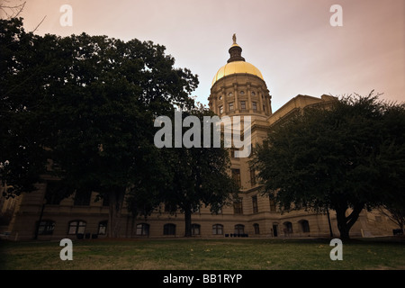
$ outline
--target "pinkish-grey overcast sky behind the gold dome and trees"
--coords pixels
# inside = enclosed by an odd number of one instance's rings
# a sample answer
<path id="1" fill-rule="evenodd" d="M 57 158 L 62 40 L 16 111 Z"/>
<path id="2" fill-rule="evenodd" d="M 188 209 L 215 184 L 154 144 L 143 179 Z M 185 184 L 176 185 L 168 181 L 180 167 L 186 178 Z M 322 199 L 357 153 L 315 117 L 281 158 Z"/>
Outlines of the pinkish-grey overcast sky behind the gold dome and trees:
<path id="1" fill-rule="evenodd" d="M 63 4 L 72 7 L 72 26 L 60 24 Z M 330 24 L 333 4 L 342 7 L 343 26 Z M 165 45 L 176 67 L 199 76 L 193 95 L 205 104 L 233 33 L 242 56 L 262 72 L 273 111 L 297 94 L 374 89 L 405 101 L 404 0 L 27 0 L 22 16 L 27 31 L 46 16 L 38 34 L 85 31 Z"/>

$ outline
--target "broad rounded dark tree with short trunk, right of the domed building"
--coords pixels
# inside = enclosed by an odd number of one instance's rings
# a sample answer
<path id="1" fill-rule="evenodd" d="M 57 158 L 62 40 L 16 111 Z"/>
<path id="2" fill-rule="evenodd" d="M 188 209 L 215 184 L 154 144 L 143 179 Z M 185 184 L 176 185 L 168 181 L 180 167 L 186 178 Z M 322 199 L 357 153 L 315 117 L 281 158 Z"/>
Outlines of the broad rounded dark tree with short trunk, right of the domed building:
<path id="1" fill-rule="evenodd" d="M 348 96 L 327 109 L 305 109 L 274 127 L 254 159 L 266 193 L 287 211 L 335 210 L 340 237 L 349 238 L 363 209 L 404 197 L 403 141 L 389 129 L 390 107 L 403 110 L 403 105 L 379 101 L 373 92 Z M 388 148 L 399 158 L 392 158 Z M 395 188 L 387 189 L 392 186 L 387 175 L 396 180 Z"/>

